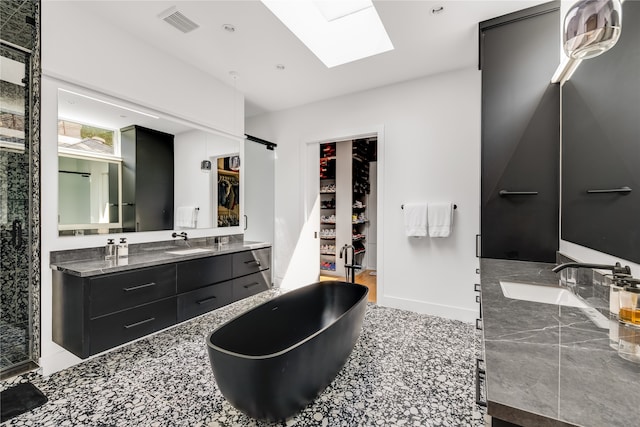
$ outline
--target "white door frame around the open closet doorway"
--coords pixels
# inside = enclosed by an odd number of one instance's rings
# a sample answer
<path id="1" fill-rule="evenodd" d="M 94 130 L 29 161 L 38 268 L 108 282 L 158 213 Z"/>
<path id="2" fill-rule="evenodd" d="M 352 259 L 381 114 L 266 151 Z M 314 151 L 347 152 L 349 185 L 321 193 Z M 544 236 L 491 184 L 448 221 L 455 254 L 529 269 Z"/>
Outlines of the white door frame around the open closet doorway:
<path id="1" fill-rule="evenodd" d="M 304 150 L 300 150 L 300 180 L 303 183 L 302 194 L 302 223 L 311 220 L 315 200 L 320 197 L 320 174 L 318 169 L 318 156 L 320 144 L 334 141 L 345 141 L 358 138 L 377 138 L 377 198 L 376 205 L 376 293 L 377 304 L 385 305 L 384 292 L 384 174 L 385 174 L 385 143 L 384 125 L 366 126 L 361 128 L 344 129 L 341 131 L 329 131 L 326 134 L 313 135 L 304 138 Z M 315 231 L 319 231 L 320 216 L 315 218 Z M 317 240 L 314 238 L 314 240 Z M 318 263 L 316 263 L 318 264 Z M 318 275 L 320 266 L 317 265 Z"/>

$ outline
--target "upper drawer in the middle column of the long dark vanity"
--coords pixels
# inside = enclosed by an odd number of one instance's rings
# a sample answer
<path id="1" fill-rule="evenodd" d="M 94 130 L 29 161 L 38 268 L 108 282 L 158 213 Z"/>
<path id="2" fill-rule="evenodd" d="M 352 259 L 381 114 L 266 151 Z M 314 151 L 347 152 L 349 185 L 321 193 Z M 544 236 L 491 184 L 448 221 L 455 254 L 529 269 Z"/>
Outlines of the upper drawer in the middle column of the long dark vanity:
<path id="1" fill-rule="evenodd" d="M 178 293 L 230 280 L 232 255 L 217 255 L 178 264 Z"/>

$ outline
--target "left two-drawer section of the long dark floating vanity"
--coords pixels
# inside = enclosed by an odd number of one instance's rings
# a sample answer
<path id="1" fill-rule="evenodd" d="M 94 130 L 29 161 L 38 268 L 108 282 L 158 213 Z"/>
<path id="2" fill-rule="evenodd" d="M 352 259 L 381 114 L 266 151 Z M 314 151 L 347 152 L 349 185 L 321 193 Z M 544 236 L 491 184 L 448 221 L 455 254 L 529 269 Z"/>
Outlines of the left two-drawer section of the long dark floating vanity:
<path id="1" fill-rule="evenodd" d="M 87 357 L 176 323 L 176 267 L 82 278 L 53 272 L 53 341 Z"/>

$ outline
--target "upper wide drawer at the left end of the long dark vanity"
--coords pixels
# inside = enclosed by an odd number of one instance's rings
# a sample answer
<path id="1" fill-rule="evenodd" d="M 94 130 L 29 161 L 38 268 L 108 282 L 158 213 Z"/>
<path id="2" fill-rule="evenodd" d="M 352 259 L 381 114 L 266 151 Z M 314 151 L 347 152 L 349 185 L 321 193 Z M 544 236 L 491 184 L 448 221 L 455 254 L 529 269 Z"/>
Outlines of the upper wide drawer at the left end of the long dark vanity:
<path id="1" fill-rule="evenodd" d="M 174 265 L 143 268 L 90 279 L 90 317 L 103 316 L 175 295 Z"/>

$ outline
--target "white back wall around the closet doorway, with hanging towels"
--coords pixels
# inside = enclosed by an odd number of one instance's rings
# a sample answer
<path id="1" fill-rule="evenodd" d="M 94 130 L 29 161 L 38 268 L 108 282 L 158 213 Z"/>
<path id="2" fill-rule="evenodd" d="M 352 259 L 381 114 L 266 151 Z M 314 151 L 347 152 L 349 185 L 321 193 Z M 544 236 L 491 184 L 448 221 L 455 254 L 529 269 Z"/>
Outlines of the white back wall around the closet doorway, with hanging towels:
<path id="1" fill-rule="evenodd" d="M 476 69 L 247 120 L 248 133 L 278 144 L 276 280 L 286 282 L 298 274 L 298 264 L 317 264 L 316 259 L 304 258 L 304 248 L 317 245 L 304 209 L 305 174 L 318 173 L 317 166 L 301 161 L 307 143 L 350 136 L 353 129 L 374 132 L 381 125 L 378 301 L 472 321 L 478 312 L 473 283 L 478 280 L 475 235 L 480 228 L 480 72 Z M 451 200 L 458 205 L 449 238 L 405 237 L 400 206 L 419 200 Z M 303 274 L 299 277 L 306 279 Z"/>

